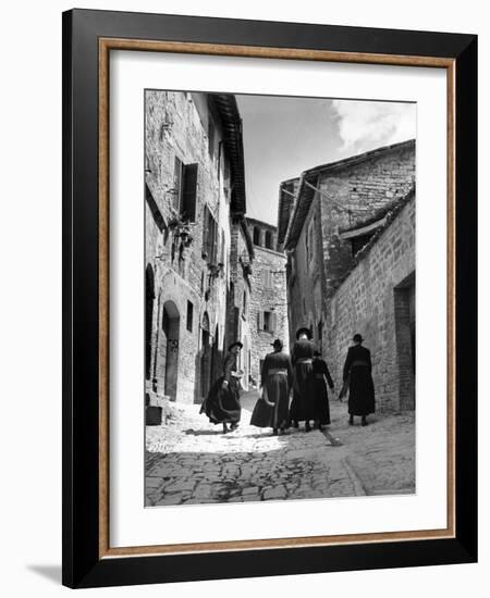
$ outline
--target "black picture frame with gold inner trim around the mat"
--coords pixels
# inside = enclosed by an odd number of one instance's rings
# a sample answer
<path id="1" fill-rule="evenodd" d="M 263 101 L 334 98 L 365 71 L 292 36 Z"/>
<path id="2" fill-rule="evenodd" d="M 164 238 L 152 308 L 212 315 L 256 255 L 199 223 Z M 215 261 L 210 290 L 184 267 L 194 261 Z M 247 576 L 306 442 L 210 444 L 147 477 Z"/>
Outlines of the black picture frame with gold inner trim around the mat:
<path id="1" fill-rule="evenodd" d="M 112 50 L 443 68 L 448 74 L 448 527 L 109 545 L 109 54 Z M 63 14 L 63 584 L 96 587 L 477 559 L 477 38 L 73 10 Z"/>

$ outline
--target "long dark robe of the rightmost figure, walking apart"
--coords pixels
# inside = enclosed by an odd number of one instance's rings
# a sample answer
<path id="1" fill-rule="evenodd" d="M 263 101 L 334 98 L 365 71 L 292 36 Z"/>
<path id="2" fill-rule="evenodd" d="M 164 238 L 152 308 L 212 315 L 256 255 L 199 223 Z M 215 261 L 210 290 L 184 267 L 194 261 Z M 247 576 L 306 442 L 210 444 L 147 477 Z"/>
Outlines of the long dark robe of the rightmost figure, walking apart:
<path id="1" fill-rule="evenodd" d="M 375 384 L 371 375 L 371 353 L 366 347 L 350 347 L 344 364 L 343 378 L 348 379 L 348 413 L 369 415 L 375 413 Z"/>

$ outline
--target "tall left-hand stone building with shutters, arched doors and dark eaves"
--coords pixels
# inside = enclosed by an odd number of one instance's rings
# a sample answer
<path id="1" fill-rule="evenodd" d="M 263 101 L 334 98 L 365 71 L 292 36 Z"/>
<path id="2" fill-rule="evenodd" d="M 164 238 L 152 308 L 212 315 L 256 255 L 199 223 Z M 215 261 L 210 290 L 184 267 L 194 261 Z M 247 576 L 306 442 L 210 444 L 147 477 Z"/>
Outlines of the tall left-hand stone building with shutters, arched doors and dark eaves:
<path id="1" fill-rule="evenodd" d="M 234 340 L 226 307 L 232 229 L 245 214 L 242 123 L 233 96 L 160 90 L 146 91 L 145 119 L 146 389 L 199 402 Z"/>

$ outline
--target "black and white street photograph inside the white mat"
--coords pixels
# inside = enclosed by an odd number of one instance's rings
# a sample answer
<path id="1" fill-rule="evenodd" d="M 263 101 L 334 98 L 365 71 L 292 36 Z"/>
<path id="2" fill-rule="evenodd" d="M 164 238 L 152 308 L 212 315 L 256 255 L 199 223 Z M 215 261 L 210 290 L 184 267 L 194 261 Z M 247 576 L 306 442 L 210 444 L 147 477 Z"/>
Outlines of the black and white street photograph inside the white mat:
<path id="1" fill-rule="evenodd" d="M 416 491 L 416 103 L 145 90 L 145 506 Z"/>

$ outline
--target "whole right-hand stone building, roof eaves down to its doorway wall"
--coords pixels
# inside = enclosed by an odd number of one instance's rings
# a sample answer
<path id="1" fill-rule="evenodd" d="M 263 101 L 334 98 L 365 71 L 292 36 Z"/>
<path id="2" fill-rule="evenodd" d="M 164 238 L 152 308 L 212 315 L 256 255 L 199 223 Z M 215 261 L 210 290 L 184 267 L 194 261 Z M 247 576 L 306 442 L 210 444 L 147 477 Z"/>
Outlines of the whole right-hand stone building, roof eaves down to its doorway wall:
<path id="1" fill-rule="evenodd" d="M 372 351 L 378 408 L 413 407 L 415 141 L 283 183 L 279 223 L 291 338 L 310 328 L 339 384 L 352 335 L 360 333 Z"/>

